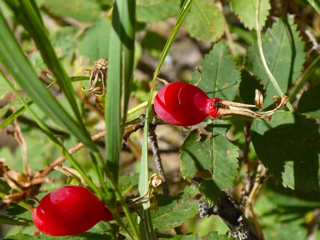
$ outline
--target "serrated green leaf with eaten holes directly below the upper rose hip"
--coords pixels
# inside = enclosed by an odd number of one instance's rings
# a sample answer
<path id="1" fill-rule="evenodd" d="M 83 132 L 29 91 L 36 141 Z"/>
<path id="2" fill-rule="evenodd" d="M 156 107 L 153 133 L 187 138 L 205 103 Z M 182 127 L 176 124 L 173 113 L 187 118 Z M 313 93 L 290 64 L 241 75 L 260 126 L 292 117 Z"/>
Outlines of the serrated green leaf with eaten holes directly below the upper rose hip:
<path id="1" fill-rule="evenodd" d="M 220 189 L 233 186 L 238 172 L 238 147 L 226 137 L 230 126 L 222 120 L 214 120 L 205 127 L 211 136 L 200 134 L 197 129 L 188 134 L 180 149 L 184 178 L 192 178 L 196 172 L 208 169 Z"/>

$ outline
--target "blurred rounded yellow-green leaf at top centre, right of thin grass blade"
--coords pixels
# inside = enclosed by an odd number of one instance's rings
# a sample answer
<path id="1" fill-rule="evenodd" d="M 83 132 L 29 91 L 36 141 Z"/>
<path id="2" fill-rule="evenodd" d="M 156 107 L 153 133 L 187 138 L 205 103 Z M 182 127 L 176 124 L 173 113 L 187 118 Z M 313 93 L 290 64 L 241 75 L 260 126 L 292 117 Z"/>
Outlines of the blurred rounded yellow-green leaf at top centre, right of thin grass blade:
<path id="1" fill-rule="evenodd" d="M 224 33 L 225 19 L 213 1 L 195 0 L 186 18 L 190 36 L 199 41 L 215 42 Z"/>

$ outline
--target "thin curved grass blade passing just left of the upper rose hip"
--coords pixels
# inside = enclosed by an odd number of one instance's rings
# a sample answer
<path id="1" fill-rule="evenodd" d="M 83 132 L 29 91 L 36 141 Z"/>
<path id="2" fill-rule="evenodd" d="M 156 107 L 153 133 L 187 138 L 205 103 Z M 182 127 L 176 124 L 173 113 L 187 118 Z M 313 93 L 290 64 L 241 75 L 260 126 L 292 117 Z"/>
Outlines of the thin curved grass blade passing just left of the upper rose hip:
<path id="1" fill-rule="evenodd" d="M 164 46 L 164 49 L 160 55 L 156 71 L 154 73 L 152 84 L 151 84 L 151 90 L 149 93 L 148 98 L 148 106 L 146 110 L 146 119 L 145 119 L 145 126 L 143 130 L 143 140 L 142 140 L 142 154 L 141 154 L 141 163 L 140 163 L 140 173 L 139 173 L 139 186 L 138 191 L 139 195 L 143 196 L 148 192 L 148 127 L 149 127 L 149 120 L 151 118 L 150 116 L 150 109 L 151 109 L 151 102 L 152 102 L 152 91 L 154 84 L 156 82 L 156 77 L 160 71 L 160 68 L 164 62 L 165 57 L 167 56 L 170 47 L 175 39 L 175 37 L 178 34 L 178 31 L 181 27 L 181 24 L 183 20 L 185 19 L 191 5 L 193 3 L 193 0 L 185 0 L 184 4 L 181 8 L 181 11 L 179 13 L 179 16 L 177 18 L 177 21 L 171 31 L 171 34 Z M 150 217 L 150 203 L 145 203 L 142 205 L 143 209 L 141 210 L 141 215 L 143 216 L 144 220 L 141 221 L 139 218 L 139 228 L 141 236 L 145 234 L 145 238 L 143 239 L 156 239 L 155 232 L 153 229 L 151 217 Z M 149 231 L 149 232 L 148 232 Z"/>

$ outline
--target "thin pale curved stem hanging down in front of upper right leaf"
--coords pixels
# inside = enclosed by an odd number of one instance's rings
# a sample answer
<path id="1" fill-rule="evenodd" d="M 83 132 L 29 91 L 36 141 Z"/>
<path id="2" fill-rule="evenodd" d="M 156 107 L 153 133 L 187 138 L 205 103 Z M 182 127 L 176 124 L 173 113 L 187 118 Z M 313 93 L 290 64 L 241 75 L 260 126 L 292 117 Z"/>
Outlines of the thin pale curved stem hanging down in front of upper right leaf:
<path id="1" fill-rule="evenodd" d="M 260 11 L 261 11 L 261 7 L 262 7 L 261 1 L 262 0 L 258 0 L 257 1 L 257 10 L 256 10 L 257 42 L 258 42 L 258 48 L 259 48 L 259 52 L 260 52 L 260 57 L 261 57 L 261 61 L 262 61 L 263 67 L 265 68 L 271 83 L 275 87 L 275 89 L 278 92 L 278 94 L 280 96 L 283 96 L 284 93 L 282 92 L 281 88 L 279 87 L 279 84 L 277 83 L 275 77 L 272 75 L 272 73 L 271 73 L 271 71 L 270 71 L 270 69 L 269 69 L 269 67 L 267 65 L 266 59 L 264 57 L 264 54 L 263 54 L 262 41 L 261 41 L 261 30 L 260 30 Z M 293 107 L 291 106 L 291 104 L 289 102 L 287 103 L 287 108 L 291 112 L 294 111 Z"/>

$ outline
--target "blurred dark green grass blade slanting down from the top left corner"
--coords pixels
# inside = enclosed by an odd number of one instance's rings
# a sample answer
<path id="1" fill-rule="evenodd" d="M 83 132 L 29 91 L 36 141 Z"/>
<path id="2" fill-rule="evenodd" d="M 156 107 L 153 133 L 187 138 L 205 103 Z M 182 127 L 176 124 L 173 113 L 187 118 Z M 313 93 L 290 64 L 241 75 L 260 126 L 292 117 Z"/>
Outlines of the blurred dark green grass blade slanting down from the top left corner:
<path id="1" fill-rule="evenodd" d="M 73 112 L 76 116 L 75 123 L 77 125 L 78 131 L 80 131 L 82 135 L 80 140 L 83 141 L 83 143 L 88 148 L 90 148 L 90 150 L 98 151 L 84 126 L 81 114 L 76 104 L 75 92 L 71 86 L 70 78 L 68 77 L 66 71 L 62 67 L 60 60 L 54 52 L 54 49 L 49 39 L 48 31 L 43 24 L 41 15 L 38 14 L 40 11 L 35 1 L 20 0 L 19 4 L 16 4 L 15 2 L 15 4 L 11 4 L 10 6 L 13 7 L 12 10 L 15 12 L 18 20 L 20 20 L 24 28 L 34 39 L 38 50 L 41 52 L 44 62 L 52 71 L 53 75 L 57 79 L 57 83 L 59 84 L 60 89 L 66 95 L 68 102 L 71 105 L 71 108 L 73 109 Z"/>

